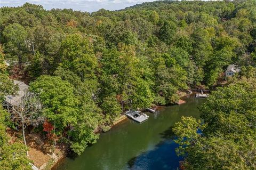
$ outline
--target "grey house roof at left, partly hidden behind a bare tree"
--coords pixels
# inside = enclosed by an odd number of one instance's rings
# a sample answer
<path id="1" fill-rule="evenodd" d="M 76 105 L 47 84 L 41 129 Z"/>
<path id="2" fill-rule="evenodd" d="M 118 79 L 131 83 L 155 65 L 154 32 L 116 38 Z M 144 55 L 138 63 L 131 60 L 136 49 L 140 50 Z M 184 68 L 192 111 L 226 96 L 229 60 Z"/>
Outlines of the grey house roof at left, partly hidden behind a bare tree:
<path id="1" fill-rule="evenodd" d="M 14 80 L 14 84 L 17 84 L 19 86 L 19 91 L 17 95 L 7 95 L 5 96 L 5 101 L 9 104 L 12 104 L 12 106 L 18 106 L 18 104 L 21 101 L 22 96 L 25 95 L 25 91 L 28 89 L 28 85 L 26 85 L 24 82 L 20 82 L 18 80 Z"/>

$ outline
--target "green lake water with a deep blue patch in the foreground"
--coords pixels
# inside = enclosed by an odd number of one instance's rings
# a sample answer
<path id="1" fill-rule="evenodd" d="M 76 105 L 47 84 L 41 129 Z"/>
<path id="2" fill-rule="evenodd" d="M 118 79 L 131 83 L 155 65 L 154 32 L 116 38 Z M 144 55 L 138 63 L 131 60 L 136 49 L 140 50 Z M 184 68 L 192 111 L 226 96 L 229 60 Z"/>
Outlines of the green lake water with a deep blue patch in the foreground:
<path id="1" fill-rule="evenodd" d="M 97 143 L 85 149 L 81 156 L 67 157 L 54 170 L 115 170 L 115 169 L 177 169 L 181 157 L 175 154 L 177 144 L 171 131 L 181 116 L 199 118 L 198 106 L 204 99 L 185 99 L 181 106 L 159 108 L 147 122 L 135 123 L 125 119 Z"/>

